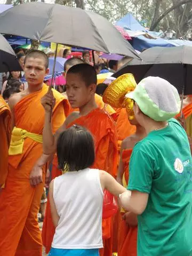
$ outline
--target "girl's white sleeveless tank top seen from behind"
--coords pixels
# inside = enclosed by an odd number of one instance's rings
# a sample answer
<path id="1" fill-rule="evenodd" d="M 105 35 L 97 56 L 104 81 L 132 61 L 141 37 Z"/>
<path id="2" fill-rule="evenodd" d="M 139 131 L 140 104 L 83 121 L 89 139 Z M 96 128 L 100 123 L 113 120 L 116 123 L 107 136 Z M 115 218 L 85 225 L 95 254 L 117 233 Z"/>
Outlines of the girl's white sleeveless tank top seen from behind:
<path id="1" fill-rule="evenodd" d="M 103 191 L 99 170 L 87 168 L 55 178 L 53 198 L 60 220 L 52 247 L 102 248 Z"/>

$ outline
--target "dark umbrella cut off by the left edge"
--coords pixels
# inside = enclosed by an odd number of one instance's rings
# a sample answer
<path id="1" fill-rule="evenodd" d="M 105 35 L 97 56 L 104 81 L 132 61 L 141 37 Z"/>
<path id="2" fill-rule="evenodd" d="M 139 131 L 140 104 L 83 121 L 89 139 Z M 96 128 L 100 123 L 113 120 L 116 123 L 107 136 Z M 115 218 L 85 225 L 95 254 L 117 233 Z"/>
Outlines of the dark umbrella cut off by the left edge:
<path id="1" fill-rule="evenodd" d="M 0 73 L 19 70 L 22 70 L 22 68 L 12 47 L 0 34 Z"/>

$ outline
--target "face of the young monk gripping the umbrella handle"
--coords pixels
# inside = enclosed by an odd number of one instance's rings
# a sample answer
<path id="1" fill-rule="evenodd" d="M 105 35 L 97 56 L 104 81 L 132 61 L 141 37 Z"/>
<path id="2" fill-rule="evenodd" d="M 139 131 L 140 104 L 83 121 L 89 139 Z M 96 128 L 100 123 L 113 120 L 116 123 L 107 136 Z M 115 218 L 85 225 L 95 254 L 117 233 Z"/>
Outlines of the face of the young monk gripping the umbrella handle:
<path id="1" fill-rule="evenodd" d="M 72 108 L 81 108 L 91 100 L 96 85 L 86 86 L 81 75 L 67 73 L 66 93 Z"/>

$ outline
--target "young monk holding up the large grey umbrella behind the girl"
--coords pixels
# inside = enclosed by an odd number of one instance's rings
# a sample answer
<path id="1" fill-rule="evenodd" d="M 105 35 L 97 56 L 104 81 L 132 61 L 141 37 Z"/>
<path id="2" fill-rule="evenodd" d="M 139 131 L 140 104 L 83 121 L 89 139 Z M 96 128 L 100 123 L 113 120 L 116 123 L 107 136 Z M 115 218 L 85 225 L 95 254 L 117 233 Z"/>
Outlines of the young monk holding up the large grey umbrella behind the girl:
<path id="1" fill-rule="evenodd" d="M 98 108 L 95 103 L 94 93 L 97 86 L 96 71 L 88 64 L 78 64 L 68 70 L 66 81 L 66 92 L 69 103 L 71 107 L 79 108 L 79 111 L 71 113 L 65 123 L 53 135 L 51 124 L 48 122 L 53 96 L 46 94 L 43 97 L 42 104 L 45 109 L 45 125 L 43 130 L 44 153 L 53 154 L 59 134 L 65 131 L 67 127 L 78 124 L 86 127 L 94 137 L 95 162 L 92 167 L 105 170 L 114 175 L 117 166 L 115 125 L 111 117 L 105 111 Z M 47 227 L 50 225 L 52 225 L 51 222 L 49 222 Z M 102 221 L 102 228 L 104 249 L 101 251 L 101 255 L 111 256 L 111 218 Z M 49 236 L 51 236 L 50 233 Z M 46 244 L 46 251 L 48 252 L 50 249 L 51 244 Z"/>

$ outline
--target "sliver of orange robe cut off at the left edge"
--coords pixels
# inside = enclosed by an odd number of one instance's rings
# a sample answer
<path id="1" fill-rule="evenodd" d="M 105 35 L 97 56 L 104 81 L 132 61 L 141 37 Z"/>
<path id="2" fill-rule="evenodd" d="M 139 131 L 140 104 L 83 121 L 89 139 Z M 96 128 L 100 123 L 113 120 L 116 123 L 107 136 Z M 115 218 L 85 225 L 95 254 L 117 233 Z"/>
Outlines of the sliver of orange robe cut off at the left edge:
<path id="1" fill-rule="evenodd" d="M 5 183 L 8 171 L 8 149 L 11 139 L 11 111 L 0 95 L 0 188 Z M 1 202 L 0 202 L 1 204 Z"/>

